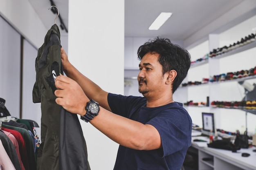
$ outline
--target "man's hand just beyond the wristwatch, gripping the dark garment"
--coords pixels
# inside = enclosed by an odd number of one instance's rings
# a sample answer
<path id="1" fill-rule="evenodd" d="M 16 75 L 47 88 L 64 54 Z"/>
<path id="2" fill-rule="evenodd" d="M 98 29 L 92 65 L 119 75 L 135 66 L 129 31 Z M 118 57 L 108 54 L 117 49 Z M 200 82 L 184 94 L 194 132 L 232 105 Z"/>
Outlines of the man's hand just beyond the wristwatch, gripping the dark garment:
<path id="1" fill-rule="evenodd" d="M 83 92 L 82 88 L 74 80 L 64 75 L 56 77 L 56 103 L 71 113 L 76 113 L 81 116 L 85 115 L 85 106 L 89 102 L 88 97 Z"/>

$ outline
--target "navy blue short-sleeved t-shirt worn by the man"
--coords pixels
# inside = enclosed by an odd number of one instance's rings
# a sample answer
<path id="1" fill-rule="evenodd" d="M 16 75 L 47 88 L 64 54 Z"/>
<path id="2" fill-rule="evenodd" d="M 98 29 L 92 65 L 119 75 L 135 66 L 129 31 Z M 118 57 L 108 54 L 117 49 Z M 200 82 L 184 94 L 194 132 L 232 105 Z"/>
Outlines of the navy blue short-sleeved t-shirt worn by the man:
<path id="1" fill-rule="evenodd" d="M 113 113 L 154 126 L 162 148 L 135 150 L 119 146 L 114 170 L 180 170 L 191 146 L 192 121 L 181 103 L 146 107 L 145 97 L 108 94 Z M 124 134 L 125 135 L 125 134 Z"/>

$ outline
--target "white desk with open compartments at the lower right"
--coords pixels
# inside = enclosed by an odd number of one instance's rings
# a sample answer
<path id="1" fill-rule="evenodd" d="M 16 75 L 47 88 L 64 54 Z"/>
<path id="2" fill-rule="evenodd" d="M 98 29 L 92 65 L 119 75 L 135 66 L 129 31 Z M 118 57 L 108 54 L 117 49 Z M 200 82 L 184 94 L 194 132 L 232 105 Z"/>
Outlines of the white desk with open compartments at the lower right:
<path id="1" fill-rule="evenodd" d="M 200 137 L 206 139 L 205 137 Z M 198 150 L 198 169 L 199 170 L 256 170 L 255 147 L 237 150 L 215 149 L 207 147 L 207 142 L 193 142 L 192 147 Z M 242 157 L 242 153 L 249 153 L 249 157 Z M 211 161 L 204 161 L 202 158 L 211 158 Z"/>

